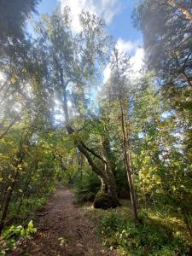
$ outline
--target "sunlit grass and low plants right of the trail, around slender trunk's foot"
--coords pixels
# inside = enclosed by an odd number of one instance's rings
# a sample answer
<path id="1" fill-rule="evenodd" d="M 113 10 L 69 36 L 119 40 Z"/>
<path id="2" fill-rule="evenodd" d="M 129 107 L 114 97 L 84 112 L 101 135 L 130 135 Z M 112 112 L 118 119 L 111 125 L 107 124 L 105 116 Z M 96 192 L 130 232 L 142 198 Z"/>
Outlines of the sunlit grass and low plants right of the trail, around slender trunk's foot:
<path id="1" fill-rule="evenodd" d="M 131 201 L 120 202 L 121 207 L 108 211 L 84 204 L 84 214 L 96 221 L 97 234 L 102 236 L 103 245 L 127 256 L 190 255 L 192 238 L 180 218 L 155 207 L 140 208 L 142 224 L 136 225 L 131 214 Z"/>

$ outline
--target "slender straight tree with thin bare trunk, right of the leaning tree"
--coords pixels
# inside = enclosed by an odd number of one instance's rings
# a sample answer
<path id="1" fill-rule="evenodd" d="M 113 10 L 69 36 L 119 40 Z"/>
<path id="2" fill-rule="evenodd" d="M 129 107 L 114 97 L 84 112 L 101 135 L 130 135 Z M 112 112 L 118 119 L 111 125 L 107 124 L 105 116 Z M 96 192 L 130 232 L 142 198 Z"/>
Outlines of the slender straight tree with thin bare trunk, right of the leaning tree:
<path id="1" fill-rule="evenodd" d="M 136 192 L 132 182 L 132 166 L 131 166 L 131 148 L 130 148 L 130 131 L 128 128 L 129 119 L 128 111 L 131 108 L 131 96 L 133 90 L 131 88 L 130 79 L 130 63 L 129 59 L 123 53 L 119 53 L 117 49 L 113 50 L 111 60 L 111 76 L 107 83 L 107 95 L 111 101 L 119 104 L 119 117 L 121 124 L 122 147 L 124 152 L 125 168 L 127 172 L 128 183 L 130 187 L 131 203 L 133 208 L 133 216 L 138 221 L 137 216 L 137 200 Z"/>

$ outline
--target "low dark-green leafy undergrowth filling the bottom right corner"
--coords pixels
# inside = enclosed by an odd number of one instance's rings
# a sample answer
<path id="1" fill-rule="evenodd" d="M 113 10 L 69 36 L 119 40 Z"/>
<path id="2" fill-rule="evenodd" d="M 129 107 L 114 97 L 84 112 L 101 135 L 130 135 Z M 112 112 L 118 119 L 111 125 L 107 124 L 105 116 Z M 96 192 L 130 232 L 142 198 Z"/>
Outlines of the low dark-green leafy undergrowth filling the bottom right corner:
<path id="1" fill-rule="evenodd" d="M 114 212 L 101 219 L 98 233 L 102 234 L 104 245 L 118 247 L 125 255 L 189 255 L 189 244 L 182 237 L 160 230 L 153 223 L 136 225 Z"/>

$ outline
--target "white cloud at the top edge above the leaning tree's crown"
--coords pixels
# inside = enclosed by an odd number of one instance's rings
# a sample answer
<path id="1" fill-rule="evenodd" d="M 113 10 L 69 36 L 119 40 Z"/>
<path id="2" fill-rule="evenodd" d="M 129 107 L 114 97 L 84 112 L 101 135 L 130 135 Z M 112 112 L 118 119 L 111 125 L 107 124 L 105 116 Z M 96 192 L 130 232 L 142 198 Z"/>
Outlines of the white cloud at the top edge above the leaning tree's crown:
<path id="1" fill-rule="evenodd" d="M 73 28 L 76 32 L 81 30 L 79 24 L 79 14 L 82 9 L 92 14 L 102 17 L 107 24 L 110 24 L 114 15 L 118 14 L 123 8 L 119 0 L 58 0 L 61 3 L 61 9 L 68 6 L 72 13 Z"/>

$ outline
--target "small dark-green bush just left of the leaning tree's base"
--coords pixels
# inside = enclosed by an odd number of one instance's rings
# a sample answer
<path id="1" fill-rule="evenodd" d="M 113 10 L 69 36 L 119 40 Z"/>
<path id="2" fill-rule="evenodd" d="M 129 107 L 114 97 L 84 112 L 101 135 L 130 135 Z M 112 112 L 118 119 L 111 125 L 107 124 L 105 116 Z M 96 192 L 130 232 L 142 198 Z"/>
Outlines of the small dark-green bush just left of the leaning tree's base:
<path id="1" fill-rule="evenodd" d="M 88 170 L 74 183 L 75 198 L 78 202 L 93 201 L 101 183 L 94 172 Z"/>

